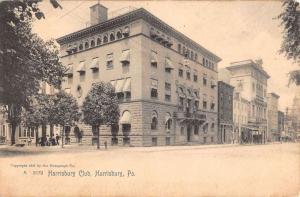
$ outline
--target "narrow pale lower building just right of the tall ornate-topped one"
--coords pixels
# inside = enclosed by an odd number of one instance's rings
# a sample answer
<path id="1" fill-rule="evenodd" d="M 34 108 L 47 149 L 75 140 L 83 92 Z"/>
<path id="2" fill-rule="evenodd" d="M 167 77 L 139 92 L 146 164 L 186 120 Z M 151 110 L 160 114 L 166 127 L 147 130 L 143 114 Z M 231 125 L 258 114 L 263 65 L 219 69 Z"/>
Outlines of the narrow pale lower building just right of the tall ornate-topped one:
<path id="1" fill-rule="evenodd" d="M 275 93 L 268 93 L 268 141 L 279 141 L 280 132 L 278 129 L 278 99 Z"/>

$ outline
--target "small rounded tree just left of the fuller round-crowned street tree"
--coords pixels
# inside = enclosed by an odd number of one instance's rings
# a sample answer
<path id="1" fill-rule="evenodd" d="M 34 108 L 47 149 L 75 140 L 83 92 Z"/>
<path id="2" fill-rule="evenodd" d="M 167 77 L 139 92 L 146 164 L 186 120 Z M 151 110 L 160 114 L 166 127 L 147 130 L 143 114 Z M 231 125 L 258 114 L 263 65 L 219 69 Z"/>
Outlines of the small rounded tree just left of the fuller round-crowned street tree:
<path id="1" fill-rule="evenodd" d="M 63 91 L 58 92 L 52 98 L 52 106 L 49 110 L 49 124 L 62 127 L 62 147 L 65 126 L 71 126 L 80 118 L 79 107 L 76 99 Z"/>

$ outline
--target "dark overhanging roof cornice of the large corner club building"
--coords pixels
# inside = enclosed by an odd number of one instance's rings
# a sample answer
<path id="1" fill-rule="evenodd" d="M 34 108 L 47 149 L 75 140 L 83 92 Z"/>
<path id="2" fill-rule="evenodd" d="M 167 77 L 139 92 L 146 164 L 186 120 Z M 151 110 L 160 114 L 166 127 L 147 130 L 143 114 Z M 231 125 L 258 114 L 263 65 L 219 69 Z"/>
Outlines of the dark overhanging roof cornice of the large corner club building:
<path id="1" fill-rule="evenodd" d="M 164 33 L 166 33 L 170 36 L 173 36 L 174 38 L 176 38 L 180 42 L 183 42 L 187 45 L 190 45 L 191 48 L 194 48 L 194 49 L 200 51 L 201 53 L 203 53 L 204 55 L 210 57 L 211 59 L 213 59 L 216 62 L 219 62 L 219 61 L 222 60 L 220 57 L 216 56 L 215 54 L 213 54 L 209 50 L 202 47 L 200 44 L 196 43 L 195 41 L 191 40 L 190 38 L 188 38 L 184 34 L 180 33 L 177 30 L 175 30 L 173 27 L 169 26 L 168 24 L 166 24 L 165 22 L 163 22 L 162 20 L 160 20 L 159 18 L 157 18 L 156 16 L 154 16 L 153 14 L 151 14 L 150 12 L 145 10 L 144 8 L 140 8 L 140 9 L 131 11 L 129 13 L 126 13 L 126 14 L 117 16 L 115 18 L 112 18 L 110 20 L 107 20 L 103 23 L 99 23 L 97 25 L 87 27 L 85 29 L 73 32 L 73 33 L 65 35 L 65 36 L 62 36 L 62 37 L 57 39 L 57 42 L 60 45 L 67 44 L 67 43 L 77 41 L 77 40 L 80 40 L 80 39 L 83 39 L 83 38 L 86 38 L 86 37 L 89 37 L 89 36 L 93 36 L 93 35 L 101 33 L 101 32 L 108 31 L 112 28 L 116 28 L 116 27 L 119 27 L 119 26 L 122 26 L 122 25 L 126 25 L 126 24 L 128 24 L 128 22 L 132 22 L 132 21 L 135 21 L 135 20 L 138 20 L 138 19 L 145 20 L 150 25 L 153 25 L 154 27 L 160 29 Z"/>

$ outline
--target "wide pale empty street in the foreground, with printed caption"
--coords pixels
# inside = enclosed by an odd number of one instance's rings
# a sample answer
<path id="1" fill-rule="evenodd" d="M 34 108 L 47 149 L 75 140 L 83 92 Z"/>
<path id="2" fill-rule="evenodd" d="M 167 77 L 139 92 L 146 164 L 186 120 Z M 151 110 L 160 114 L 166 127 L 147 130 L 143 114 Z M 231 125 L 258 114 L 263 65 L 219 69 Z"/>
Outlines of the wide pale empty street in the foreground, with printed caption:
<path id="1" fill-rule="evenodd" d="M 34 148 L 23 148 L 27 154 L 0 148 L 0 196 L 297 196 L 300 191 L 299 143 L 51 147 L 39 154 L 30 152 Z"/>

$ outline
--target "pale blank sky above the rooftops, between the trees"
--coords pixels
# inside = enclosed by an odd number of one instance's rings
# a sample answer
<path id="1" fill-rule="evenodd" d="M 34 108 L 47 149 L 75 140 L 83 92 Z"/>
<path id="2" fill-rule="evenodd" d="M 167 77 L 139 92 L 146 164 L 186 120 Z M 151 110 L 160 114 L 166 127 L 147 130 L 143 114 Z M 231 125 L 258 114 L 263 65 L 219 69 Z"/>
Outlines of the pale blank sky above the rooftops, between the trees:
<path id="1" fill-rule="evenodd" d="M 49 1 L 40 4 L 46 19 L 36 20 L 33 30 L 43 39 L 58 38 L 87 27 L 89 7 L 98 1 L 59 1 L 63 9 L 53 9 Z M 295 86 L 288 87 L 287 74 L 299 67 L 279 54 L 282 41 L 280 1 L 100 1 L 109 16 L 124 8 L 143 7 L 222 58 L 219 68 L 245 59 L 263 60 L 271 76 L 268 92 L 280 96 L 279 109 L 292 104 Z"/>

